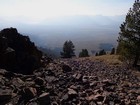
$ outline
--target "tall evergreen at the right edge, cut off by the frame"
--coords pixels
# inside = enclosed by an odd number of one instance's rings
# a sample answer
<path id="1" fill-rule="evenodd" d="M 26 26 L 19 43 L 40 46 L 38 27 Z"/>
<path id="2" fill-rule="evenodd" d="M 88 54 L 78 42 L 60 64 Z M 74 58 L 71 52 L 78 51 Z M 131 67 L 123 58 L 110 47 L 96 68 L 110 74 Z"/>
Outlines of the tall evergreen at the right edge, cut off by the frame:
<path id="1" fill-rule="evenodd" d="M 121 24 L 118 38 L 117 53 L 123 60 L 136 66 L 140 59 L 140 2 L 135 1 L 133 8 L 126 15 L 125 22 Z"/>

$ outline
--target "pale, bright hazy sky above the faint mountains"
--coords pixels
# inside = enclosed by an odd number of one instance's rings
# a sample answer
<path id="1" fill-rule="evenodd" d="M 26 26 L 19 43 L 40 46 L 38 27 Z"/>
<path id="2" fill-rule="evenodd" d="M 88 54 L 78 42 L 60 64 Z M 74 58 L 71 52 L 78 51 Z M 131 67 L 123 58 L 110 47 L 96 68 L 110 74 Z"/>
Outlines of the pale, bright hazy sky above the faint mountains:
<path id="1" fill-rule="evenodd" d="M 0 19 L 41 22 L 73 15 L 124 15 L 134 0 L 0 0 Z"/>

